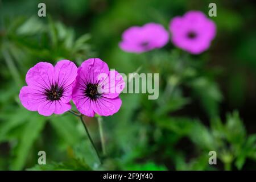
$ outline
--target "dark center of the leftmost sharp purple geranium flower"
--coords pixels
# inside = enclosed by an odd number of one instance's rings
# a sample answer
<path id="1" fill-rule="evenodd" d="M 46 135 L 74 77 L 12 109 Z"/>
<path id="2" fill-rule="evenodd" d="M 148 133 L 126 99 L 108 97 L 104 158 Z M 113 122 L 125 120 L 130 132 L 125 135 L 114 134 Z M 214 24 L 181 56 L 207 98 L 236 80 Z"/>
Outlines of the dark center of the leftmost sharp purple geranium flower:
<path id="1" fill-rule="evenodd" d="M 44 94 L 46 95 L 47 100 L 58 101 L 63 96 L 64 88 L 58 86 L 57 84 L 52 84 L 50 89 L 46 89 Z"/>

